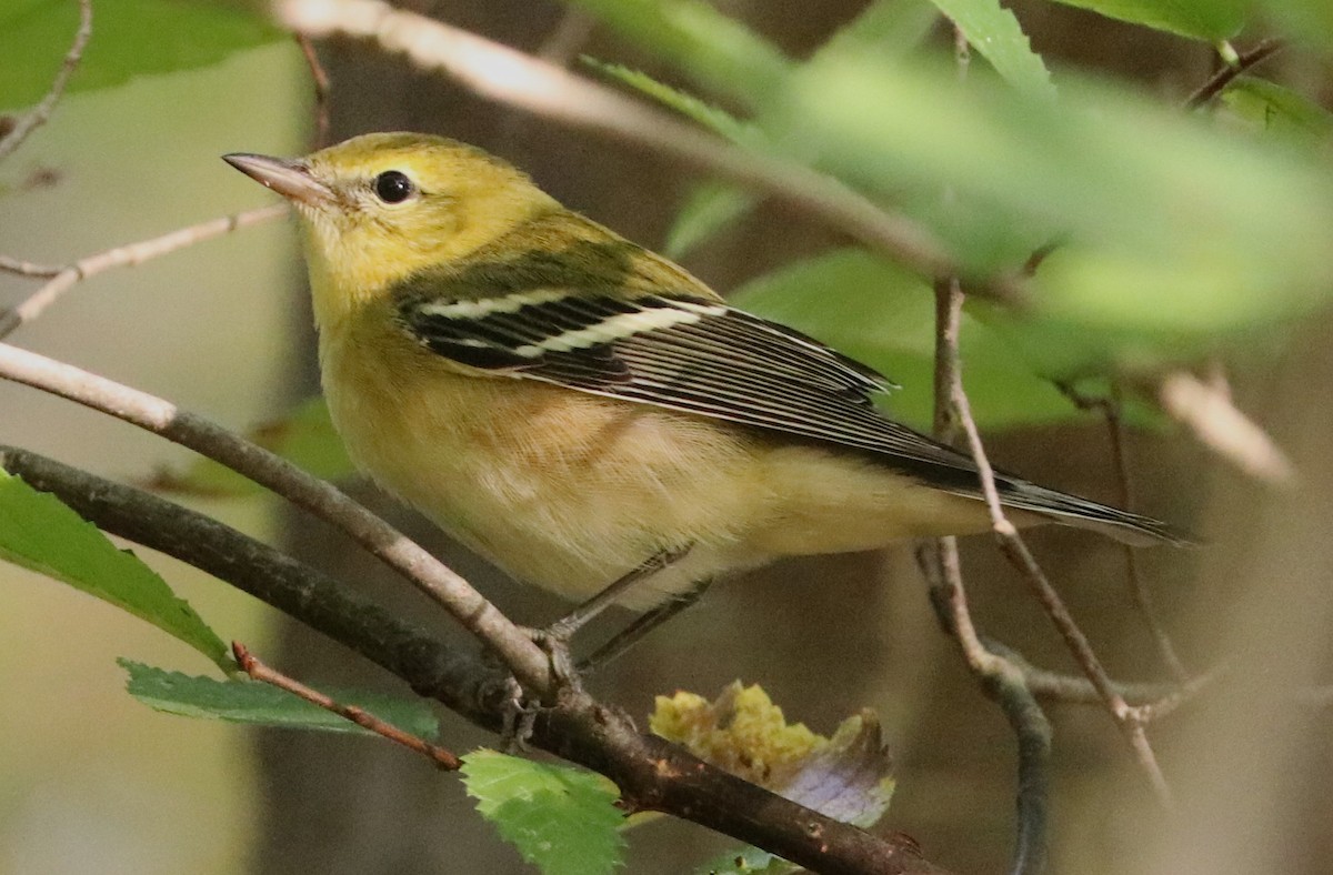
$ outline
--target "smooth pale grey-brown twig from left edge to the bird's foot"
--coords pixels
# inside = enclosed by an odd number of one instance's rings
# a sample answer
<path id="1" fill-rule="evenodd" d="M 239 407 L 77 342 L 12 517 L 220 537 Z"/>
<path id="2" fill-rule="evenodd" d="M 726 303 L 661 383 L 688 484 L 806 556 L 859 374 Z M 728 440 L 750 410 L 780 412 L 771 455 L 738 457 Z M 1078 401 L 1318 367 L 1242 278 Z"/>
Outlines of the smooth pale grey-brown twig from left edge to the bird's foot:
<path id="1" fill-rule="evenodd" d="M 17 346 L 0 344 L 0 377 L 188 446 L 337 526 L 495 650 L 528 690 L 553 691 L 549 661 L 527 634 L 448 566 L 332 483 L 163 398 Z"/>

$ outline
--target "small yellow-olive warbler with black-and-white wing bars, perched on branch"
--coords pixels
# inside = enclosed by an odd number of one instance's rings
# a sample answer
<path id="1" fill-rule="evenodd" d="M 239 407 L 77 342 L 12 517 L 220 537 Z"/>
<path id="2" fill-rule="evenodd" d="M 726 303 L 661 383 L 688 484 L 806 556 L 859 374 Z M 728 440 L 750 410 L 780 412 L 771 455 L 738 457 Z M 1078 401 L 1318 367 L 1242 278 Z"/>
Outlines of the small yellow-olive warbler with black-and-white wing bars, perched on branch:
<path id="1" fill-rule="evenodd" d="M 352 459 L 507 573 L 663 606 L 780 557 L 989 529 L 966 454 L 889 384 L 728 306 L 480 149 L 416 133 L 228 154 L 297 209 Z M 1168 525 L 997 474 L 1017 525 L 1140 545 Z"/>

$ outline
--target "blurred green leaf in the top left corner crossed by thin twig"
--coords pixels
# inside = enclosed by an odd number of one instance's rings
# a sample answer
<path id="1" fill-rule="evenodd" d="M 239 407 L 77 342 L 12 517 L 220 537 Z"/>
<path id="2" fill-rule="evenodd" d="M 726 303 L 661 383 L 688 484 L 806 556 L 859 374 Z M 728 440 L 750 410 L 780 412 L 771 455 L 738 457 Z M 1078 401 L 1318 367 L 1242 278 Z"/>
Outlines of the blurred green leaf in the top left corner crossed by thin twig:
<path id="1" fill-rule="evenodd" d="M 92 39 L 68 92 L 216 64 L 284 37 L 260 16 L 217 0 L 93 1 Z M 41 100 L 79 28 L 75 0 L 5 0 L 0 12 L 0 107 Z"/>

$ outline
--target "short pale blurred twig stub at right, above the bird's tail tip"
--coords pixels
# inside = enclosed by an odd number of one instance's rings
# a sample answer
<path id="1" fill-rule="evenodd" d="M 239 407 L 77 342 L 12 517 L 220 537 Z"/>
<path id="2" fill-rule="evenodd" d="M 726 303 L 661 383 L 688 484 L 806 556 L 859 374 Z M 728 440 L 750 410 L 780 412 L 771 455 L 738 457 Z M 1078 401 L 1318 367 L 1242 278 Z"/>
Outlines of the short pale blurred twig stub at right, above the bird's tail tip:
<path id="1" fill-rule="evenodd" d="M 1253 420 L 1232 402 L 1230 393 L 1177 370 L 1166 374 L 1153 394 L 1162 410 L 1184 424 L 1198 441 L 1238 469 L 1273 486 L 1289 486 L 1296 470 Z"/>

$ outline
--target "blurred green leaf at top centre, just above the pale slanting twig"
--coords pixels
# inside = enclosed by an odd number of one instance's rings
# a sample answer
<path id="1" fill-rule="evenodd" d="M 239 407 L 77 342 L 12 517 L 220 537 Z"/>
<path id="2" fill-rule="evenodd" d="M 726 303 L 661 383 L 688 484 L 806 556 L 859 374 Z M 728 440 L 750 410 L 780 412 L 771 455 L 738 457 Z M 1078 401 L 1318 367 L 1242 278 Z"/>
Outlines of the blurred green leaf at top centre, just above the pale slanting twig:
<path id="1" fill-rule="evenodd" d="M 701 0 L 572 0 L 696 81 L 745 101 L 778 87 L 789 60 L 745 24 Z"/>

